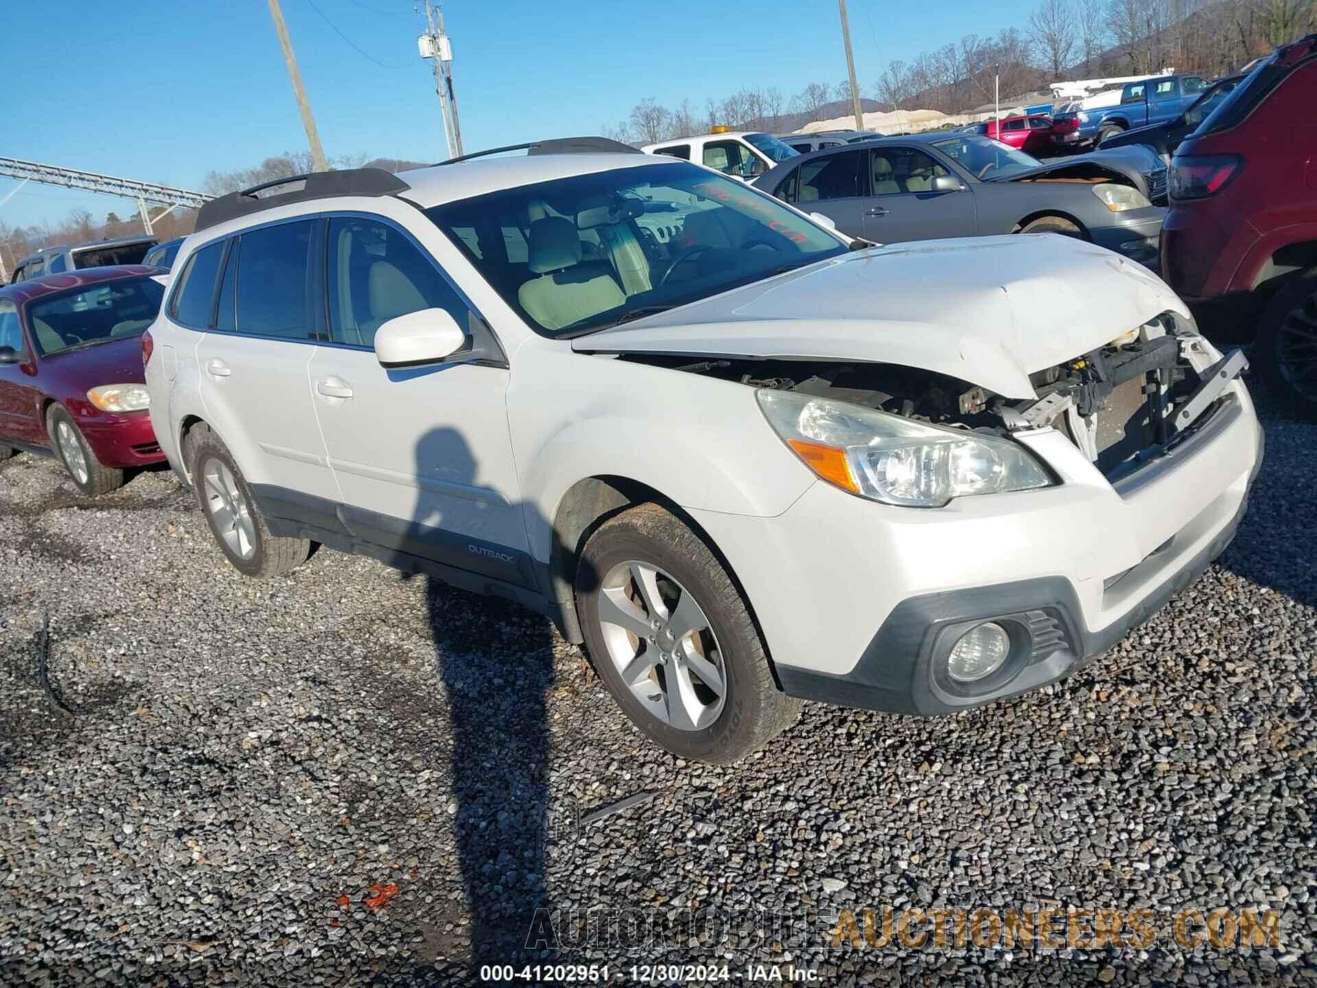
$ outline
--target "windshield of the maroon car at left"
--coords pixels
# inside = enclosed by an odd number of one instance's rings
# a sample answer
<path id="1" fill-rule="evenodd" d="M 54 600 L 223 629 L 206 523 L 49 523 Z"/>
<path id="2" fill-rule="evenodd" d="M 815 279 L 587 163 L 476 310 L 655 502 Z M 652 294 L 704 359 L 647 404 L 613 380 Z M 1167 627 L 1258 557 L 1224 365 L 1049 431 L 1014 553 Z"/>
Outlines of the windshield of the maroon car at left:
<path id="1" fill-rule="evenodd" d="M 165 288 L 150 278 L 100 282 L 28 306 L 37 353 L 49 357 L 97 343 L 141 336 L 161 308 Z"/>

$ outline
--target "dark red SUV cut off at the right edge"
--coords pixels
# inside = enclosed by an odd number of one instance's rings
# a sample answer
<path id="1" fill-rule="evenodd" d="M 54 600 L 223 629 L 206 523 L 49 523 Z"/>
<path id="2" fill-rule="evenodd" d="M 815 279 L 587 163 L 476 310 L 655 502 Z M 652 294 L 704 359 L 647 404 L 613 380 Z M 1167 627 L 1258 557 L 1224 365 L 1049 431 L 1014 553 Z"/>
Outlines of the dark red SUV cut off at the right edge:
<path id="1" fill-rule="evenodd" d="M 1205 328 L 1255 336 L 1258 375 L 1317 419 L 1317 34 L 1262 62 L 1171 161 L 1162 277 Z"/>

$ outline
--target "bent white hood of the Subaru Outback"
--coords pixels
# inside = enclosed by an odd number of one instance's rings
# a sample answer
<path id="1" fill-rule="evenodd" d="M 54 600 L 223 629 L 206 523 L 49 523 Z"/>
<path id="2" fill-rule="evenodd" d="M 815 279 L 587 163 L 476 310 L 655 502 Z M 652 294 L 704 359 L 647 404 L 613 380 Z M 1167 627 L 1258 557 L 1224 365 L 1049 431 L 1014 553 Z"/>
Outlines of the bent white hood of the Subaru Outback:
<path id="1" fill-rule="evenodd" d="M 1183 303 L 1151 271 L 1069 237 L 894 244 L 572 341 L 587 353 L 871 361 L 1033 398 L 1029 375 Z"/>

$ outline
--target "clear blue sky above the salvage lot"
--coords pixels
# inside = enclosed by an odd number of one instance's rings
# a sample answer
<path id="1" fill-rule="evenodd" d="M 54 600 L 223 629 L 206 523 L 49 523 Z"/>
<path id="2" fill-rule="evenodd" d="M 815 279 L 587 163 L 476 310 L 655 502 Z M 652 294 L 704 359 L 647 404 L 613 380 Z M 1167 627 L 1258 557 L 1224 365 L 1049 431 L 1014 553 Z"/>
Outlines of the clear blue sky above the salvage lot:
<path id="1" fill-rule="evenodd" d="M 446 157 L 411 0 L 282 4 L 328 155 Z M 889 59 L 1023 26 L 1031 5 L 849 0 L 860 84 L 871 91 Z M 3 7 L 11 94 L 30 92 L 33 112 L 14 115 L 11 100 L 0 154 L 198 188 L 208 171 L 306 148 L 265 0 L 80 3 L 59 18 L 47 4 Z M 444 16 L 466 150 L 598 133 L 644 96 L 702 109 L 747 86 L 790 95 L 846 78 L 835 0 L 448 0 Z M 0 199 L 14 184 L 0 178 Z M 0 221 L 72 208 L 103 217 L 132 204 L 29 183 Z"/>

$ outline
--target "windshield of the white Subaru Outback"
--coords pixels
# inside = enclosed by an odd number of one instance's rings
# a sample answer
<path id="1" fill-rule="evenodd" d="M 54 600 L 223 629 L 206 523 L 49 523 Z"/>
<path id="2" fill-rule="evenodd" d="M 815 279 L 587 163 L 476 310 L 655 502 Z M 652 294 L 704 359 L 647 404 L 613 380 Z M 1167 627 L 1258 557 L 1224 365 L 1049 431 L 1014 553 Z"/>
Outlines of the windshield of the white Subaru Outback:
<path id="1" fill-rule="evenodd" d="M 544 336 L 577 336 L 846 245 L 763 192 L 674 161 L 506 188 L 425 215 Z"/>

